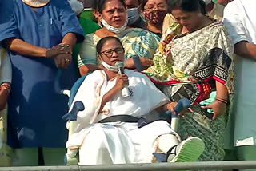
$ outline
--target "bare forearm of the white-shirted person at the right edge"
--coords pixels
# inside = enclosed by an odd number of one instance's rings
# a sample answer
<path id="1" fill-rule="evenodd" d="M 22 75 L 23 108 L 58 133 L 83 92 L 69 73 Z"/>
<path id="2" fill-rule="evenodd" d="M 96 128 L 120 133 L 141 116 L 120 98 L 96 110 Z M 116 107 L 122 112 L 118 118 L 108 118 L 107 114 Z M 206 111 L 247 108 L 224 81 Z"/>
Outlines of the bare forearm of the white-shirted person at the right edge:
<path id="1" fill-rule="evenodd" d="M 256 45 L 246 41 L 238 42 L 234 45 L 234 53 L 241 57 L 256 60 Z"/>

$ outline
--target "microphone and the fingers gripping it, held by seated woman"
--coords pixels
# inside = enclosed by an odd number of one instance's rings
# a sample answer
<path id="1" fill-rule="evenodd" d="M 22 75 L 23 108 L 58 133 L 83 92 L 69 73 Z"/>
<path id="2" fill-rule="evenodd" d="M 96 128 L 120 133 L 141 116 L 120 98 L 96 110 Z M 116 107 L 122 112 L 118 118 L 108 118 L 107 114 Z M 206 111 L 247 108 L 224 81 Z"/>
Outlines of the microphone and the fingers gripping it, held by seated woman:
<path id="1" fill-rule="evenodd" d="M 125 74 L 124 63 L 116 62 L 115 66 L 118 68 L 118 74 L 121 76 L 120 79 L 122 79 L 122 81 L 126 80 L 127 76 L 123 75 L 123 74 Z M 117 84 L 122 83 L 122 82 L 120 82 L 120 79 L 117 80 Z M 128 78 L 127 78 L 127 81 L 128 81 Z M 129 82 L 128 82 L 128 84 L 129 84 Z M 122 97 L 130 97 L 130 91 L 129 91 L 127 85 L 124 85 L 124 87 L 122 88 Z"/>

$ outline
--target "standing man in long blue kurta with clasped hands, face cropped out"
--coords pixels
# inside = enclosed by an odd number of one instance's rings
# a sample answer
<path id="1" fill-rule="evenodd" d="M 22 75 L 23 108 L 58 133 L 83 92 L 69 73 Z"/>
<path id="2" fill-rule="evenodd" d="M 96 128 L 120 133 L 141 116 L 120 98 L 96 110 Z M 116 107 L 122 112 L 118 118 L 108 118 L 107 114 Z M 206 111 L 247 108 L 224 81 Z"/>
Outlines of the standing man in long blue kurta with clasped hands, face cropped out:
<path id="1" fill-rule="evenodd" d="M 54 92 L 54 80 L 58 68 L 66 68 L 62 88 L 74 83 L 71 52 L 83 40 L 82 27 L 67 0 L 0 3 L 0 43 L 9 50 L 13 68 L 8 110 L 13 165 L 62 165 L 68 99 Z"/>

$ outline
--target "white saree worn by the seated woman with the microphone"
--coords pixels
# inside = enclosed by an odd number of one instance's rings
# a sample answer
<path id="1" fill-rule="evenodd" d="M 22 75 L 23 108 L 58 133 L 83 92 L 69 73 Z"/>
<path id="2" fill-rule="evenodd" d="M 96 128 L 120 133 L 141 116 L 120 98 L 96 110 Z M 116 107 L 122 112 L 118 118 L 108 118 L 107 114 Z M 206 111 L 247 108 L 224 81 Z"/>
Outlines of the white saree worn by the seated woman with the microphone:
<path id="1" fill-rule="evenodd" d="M 154 121 L 141 129 L 137 123 L 98 121 L 114 115 L 141 117 L 169 101 L 144 74 L 125 70 L 129 78 L 130 97 L 118 93 L 99 111 L 102 97 L 115 85 L 97 70 L 82 83 L 74 101 L 82 101 L 85 110 L 78 113 L 78 127 L 66 147 L 79 150 L 79 165 L 149 163 L 160 135 L 175 134 L 166 121 Z M 71 108 L 72 109 L 72 108 Z M 72 155 L 72 154 L 70 154 Z"/>

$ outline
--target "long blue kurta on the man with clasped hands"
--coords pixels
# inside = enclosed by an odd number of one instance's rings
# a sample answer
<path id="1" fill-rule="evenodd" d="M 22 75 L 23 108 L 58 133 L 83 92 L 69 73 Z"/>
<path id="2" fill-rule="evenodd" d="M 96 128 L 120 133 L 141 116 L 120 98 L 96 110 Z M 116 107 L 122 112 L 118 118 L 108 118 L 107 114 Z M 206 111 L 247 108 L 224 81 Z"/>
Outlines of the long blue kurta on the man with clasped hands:
<path id="1" fill-rule="evenodd" d="M 66 0 L 50 0 L 34 11 L 22 0 L 0 1 L 0 42 L 20 38 L 35 46 L 50 48 L 68 33 L 83 39 L 83 30 Z M 20 147 L 64 147 L 67 131 L 62 115 L 68 97 L 54 91 L 58 68 L 54 58 L 22 56 L 10 52 L 13 67 L 8 109 L 8 144 Z M 74 68 L 64 71 L 65 84 L 74 83 Z"/>

